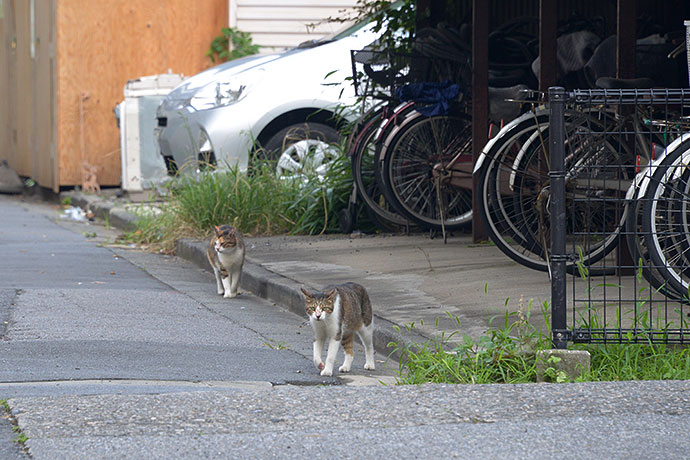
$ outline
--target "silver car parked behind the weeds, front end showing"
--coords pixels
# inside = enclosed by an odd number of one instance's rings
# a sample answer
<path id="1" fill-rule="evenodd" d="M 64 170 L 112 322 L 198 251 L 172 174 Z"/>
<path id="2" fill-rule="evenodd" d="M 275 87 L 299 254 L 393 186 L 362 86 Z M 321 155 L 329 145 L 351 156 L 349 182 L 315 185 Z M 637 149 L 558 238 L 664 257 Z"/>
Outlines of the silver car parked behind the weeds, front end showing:
<path id="1" fill-rule="evenodd" d="M 318 168 L 337 142 L 356 97 L 350 50 L 376 39 L 367 23 L 280 54 L 255 55 L 201 72 L 170 92 L 157 111 L 155 135 L 169 172 L 206 164 L 279 158 L 280 174 Z M 262 149 L 256 150 L 260 145 Z M 307 155 L 306 152 L 316 154 Z"/>

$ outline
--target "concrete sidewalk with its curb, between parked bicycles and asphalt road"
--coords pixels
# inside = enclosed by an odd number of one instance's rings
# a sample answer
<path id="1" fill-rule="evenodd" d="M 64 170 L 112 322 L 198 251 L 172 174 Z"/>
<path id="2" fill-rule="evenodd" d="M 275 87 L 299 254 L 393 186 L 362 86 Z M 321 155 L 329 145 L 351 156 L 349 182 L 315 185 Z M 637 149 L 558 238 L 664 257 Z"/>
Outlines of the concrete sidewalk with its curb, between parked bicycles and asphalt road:
<path id="1" fill-rule="evenodd" d="M 132 228 L 132 205 L 67 192 L 72 203 L 111 225 Z M 138 206 L 138 205 L 137 205 Z M 492 317 L 525 311 L 543 325 L 541 305 L 550 298 L 548 274 L 525 268 L 490 244 L 468 235 L 447 244 L 428 235 L 328 235 L 246 238 L 242 289 L 304 315 L 300 287 L 321 289 L 354 281 L 374 306 L 375 346 L 390 354 L 404 345 L 445 335 L 481 335 Z M 205 241 L 182 240 L 177 255 L 210 270 Z M 413 327 L 412 327 L 413 326 Z M 395 355 L 394 355 L 395 356 Z"/>

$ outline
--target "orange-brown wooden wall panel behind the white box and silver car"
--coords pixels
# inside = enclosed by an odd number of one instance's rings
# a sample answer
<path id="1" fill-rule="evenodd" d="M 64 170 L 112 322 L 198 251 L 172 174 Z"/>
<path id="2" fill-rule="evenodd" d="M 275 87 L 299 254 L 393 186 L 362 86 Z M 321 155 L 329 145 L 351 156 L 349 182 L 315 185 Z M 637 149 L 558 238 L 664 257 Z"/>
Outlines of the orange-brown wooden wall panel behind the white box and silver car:
<path id="1" fill-rule="evenodd" d="M 227 20 L 227 0 L 60 0 L 59 184 L 80 183 L 83 158 L 101 167 L 101 185 L 119 185 L 113 108 L 125 84 L 168 70 L 189 76 L 209 67 L 204 53 Z"/>

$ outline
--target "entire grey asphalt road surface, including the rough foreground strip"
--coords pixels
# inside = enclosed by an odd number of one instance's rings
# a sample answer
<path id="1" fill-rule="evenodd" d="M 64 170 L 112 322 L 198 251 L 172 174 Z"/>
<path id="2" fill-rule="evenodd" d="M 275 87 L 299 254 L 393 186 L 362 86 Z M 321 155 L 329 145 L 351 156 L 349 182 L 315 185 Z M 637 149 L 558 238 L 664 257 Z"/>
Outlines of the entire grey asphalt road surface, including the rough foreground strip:
<path id="1" fill-rule="evenodd" d="M 55 209 L 0 197 L 0 215 L 0 399 L 31 458 L 690 452 L 690 382 L 381 385 L 392 370 L 379 356 L 364 372 L 361 350 L 354 378 L 322 379 L 304 318 L 222 299 L 209 273 L 103 246 L 113 232 L 56 224 Z M 0 418 L 0 458 L 29 458 L 16 436 Z"/>

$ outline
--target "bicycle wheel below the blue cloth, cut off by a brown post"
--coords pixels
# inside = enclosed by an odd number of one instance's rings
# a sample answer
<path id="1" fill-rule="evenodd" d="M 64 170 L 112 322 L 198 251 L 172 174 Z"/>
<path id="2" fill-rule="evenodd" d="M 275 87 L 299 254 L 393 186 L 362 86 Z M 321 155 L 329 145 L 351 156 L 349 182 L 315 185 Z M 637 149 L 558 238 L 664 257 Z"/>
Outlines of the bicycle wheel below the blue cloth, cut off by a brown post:
<path id="1" fill-rule="evenodd" d="M 387 199 L 424 228 L 454 230 L 472 218 L 471 122 L 464 116 L 408 116 L 384 143 L 379 178 Z M 463 181 L 449 163 L 466 166 Z M 469 184 L 469 185 L 467 185 Z"/>

